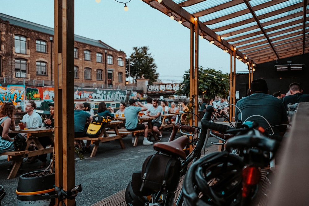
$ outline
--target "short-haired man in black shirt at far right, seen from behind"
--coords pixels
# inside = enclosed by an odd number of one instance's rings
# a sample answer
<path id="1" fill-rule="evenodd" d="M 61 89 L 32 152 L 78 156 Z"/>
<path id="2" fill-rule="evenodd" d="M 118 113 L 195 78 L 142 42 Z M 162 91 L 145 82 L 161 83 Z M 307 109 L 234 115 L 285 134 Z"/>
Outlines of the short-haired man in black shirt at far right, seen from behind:
<path id="1" fill-rule="evenodd" d="M 289 103 L 295 104 L 300 102 L 309 102 L 309 95 L 303 94 L 303 90 L 301 89 L 299 83 L 291 83 L 289 86 L 289 91 L 291 95 L 285 96 L 283 99 L 281 99 L 284 107 L 286 108 L 286 111 L 288 110 L 287 105 Z"/>

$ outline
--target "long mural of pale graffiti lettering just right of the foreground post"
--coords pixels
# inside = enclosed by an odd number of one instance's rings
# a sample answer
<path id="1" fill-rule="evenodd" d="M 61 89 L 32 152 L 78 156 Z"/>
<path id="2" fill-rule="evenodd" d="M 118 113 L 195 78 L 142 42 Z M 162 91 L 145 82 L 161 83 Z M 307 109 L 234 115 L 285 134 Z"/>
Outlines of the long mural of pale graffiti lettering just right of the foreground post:
<path id="1" fill-rule="evenodd" d="M 124 102 L 127 90 L 104 90 L 75 88 L 74 99 L 103 99 L 103 101 Z"/>

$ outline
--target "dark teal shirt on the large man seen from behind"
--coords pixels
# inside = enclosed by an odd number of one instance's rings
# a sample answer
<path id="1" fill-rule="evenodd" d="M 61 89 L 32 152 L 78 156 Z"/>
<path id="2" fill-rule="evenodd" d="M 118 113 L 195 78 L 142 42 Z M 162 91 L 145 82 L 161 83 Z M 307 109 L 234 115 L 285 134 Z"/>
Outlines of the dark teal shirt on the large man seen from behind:
<path id="1" fill-rule="evenodd" d="M 280 99 L 267 95 L 264 93 L 252 94 L 248 97 L 240 99 L 236 106 L 242 112 L 242 121 L 244 122 L 248 117 L 252 115 L 260 115 L 265 117 L 271 126 L 276 126 L 282 124 L 288 120 L 286 110 L 283 106 L 283 103 Z M 235 122 L 241 118 L 239 109 L 235 108 Z M 269 128 L 268 123 L 258 116 L 250 117 L 246 121 L 254 121 L 259 124 L 259 126 L 264 129 Z M 279 128 L 273 127 L 275 134 L 279 134 Z M 272 134 L 270 129 L 267 129 L 267 132 Z"/>

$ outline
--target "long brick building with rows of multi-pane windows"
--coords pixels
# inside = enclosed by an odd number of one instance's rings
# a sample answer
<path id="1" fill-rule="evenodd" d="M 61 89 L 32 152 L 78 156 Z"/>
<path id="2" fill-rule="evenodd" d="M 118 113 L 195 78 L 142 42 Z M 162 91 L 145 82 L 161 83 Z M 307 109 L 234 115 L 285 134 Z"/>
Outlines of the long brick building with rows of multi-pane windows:
<path id="1" fill-rule="evenodd" d="M 53 28 L 0 13 L 0 84 L 54 86 L 53 61 Z M 125 53 L 74 35 L 74 78 L 76 87 L 124 88 Z"/>

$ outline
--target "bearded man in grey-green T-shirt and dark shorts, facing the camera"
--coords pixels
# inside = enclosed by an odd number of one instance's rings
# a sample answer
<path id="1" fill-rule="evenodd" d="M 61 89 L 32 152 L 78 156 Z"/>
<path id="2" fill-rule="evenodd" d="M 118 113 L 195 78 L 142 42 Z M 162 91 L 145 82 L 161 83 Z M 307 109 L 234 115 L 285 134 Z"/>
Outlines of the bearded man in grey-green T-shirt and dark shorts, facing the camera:
<path id="1" fill-rule="evenodd" d="M 159 128 L 161 127 L 161 124 L 162 124 L 162 121 L 161 121 L 162 107 L 158 105 L 159 105 L 159 100 L 153 99 L 152 107 L 150 107 L 147 110 L 147 115 L 150 117 L 155 117 L 155 119 L 151 121 L 152 131 L 155 132 L 155 134 L 158 136 L 157 141 L 161 141 L 162 134 Z"/>

